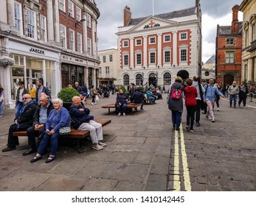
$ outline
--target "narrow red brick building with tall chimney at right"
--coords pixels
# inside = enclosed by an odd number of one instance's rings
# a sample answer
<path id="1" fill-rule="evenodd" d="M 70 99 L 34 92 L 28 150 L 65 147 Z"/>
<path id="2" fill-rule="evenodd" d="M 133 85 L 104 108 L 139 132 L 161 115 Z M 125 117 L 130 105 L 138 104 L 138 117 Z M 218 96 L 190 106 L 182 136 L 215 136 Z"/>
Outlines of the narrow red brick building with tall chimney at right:
<path id="1" fill-rule="evenodd" d="M 218 85 L 233 81 L 241 84 L 242 26 L 238 21 L 239 6 L 232 7 L 232 26 L 217 25 L 216 79 Z"/>

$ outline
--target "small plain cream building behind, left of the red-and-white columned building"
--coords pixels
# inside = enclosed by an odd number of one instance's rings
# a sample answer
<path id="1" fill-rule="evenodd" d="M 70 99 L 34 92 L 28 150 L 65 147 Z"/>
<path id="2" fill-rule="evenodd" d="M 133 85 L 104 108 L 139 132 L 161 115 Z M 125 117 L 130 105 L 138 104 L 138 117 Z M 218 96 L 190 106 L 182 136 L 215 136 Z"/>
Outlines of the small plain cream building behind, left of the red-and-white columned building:
<path id="1" fill-rule="evenodd" d="M 105 49 L 98 51 L 100 60 L 99 83 L 117 84 L 117 72 L 120 67 L 120 59 L 117 49 Z"/>

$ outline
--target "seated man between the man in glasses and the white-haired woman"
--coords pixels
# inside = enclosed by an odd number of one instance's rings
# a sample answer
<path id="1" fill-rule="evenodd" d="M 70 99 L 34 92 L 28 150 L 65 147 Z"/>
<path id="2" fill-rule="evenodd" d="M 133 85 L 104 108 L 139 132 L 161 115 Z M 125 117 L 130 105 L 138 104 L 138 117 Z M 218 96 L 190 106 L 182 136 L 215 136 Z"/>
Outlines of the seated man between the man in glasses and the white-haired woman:
<path id="1" fill-rule="evenodd" d="M 26 156 L 37 151 L 35 146 L 35 137 L 41 137 L 45 132 L 46 119 L 49 116 L 49 112 L 53 109 L 53 104 L 49 99 L 49 96 L 41 95 L 40 105 L 37 107 L 33 116 L 33 125 L 27 129 L 27 138 L 29 141 L 30 149 L 23 152 L 22 155 Z"/>

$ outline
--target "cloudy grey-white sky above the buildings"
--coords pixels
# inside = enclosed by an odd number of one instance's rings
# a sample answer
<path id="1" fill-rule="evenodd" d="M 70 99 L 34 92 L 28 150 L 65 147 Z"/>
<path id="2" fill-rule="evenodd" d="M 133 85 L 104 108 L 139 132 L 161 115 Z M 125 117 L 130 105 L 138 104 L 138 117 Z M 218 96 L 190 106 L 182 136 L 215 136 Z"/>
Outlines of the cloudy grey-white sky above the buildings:
<path id="1" fill-rule="evenodd" d="M 141 18 L 152 15 L 153 0 L 95 0 L 100 10 L 97 34 L 99 38 L 98 50 L 117 49 L 118 26 L 123 26 L 123 9 L 130 7 L 131 18 Z M 169 13 L 194 7 L 196 0 L 154 0 L 154 14 Z M 201 0 L 203 62 L 215 54 L 215 37 L 217 24 L 231 26 L 232 7 L 240 5 L 242 0 Z M 239 12 L 238 20 L 243 21 Z"/>

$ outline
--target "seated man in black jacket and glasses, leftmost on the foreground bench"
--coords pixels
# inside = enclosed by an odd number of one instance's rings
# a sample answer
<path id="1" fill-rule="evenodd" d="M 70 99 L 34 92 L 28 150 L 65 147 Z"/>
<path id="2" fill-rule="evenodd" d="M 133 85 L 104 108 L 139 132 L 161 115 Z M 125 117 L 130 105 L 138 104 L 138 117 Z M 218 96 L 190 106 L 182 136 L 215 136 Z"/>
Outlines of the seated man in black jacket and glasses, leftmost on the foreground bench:
<path id="1" fill-rule="evenodd" d="M 28 93 L 22 96 L 22 101 L 23 104 L 18 116 L 15 118 L 15 123 L 9 128 L 7 148 L 3 149 L 1 152 L 9 152 L 16 149 L 16 145 L 19 144 L 18 137 L 13 136 L 13 132 L 18 130 L 27 130 L 28 127 L 32 126 L 32 116 L 35 113 L 36 104 Z"/>

